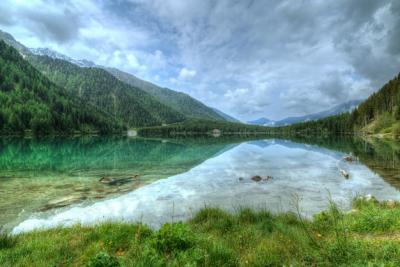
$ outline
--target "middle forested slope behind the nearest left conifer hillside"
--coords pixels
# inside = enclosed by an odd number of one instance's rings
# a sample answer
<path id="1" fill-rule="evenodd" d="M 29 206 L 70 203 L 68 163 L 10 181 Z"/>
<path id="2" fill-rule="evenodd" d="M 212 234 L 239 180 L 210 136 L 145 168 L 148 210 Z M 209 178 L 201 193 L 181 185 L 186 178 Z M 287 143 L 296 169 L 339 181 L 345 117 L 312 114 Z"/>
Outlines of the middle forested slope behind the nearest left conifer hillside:
<path id="1" fill-rule="evenodd" d="M 64 60 L 29 55 L 51 81 L 87 103 L 122 119 L 128 127 L 177 122 L 184 116 L 100 68 L 81 68 Z"/>

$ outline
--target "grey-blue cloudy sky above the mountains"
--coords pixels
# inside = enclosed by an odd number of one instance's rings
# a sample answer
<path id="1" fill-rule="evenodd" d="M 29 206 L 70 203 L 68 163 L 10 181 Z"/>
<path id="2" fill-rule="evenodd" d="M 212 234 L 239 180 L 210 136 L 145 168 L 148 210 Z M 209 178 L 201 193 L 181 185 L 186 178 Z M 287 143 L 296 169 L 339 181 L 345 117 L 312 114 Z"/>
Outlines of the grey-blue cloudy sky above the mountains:
<path id="1" fill-rule="evenodd" d="M 0 28 L 242 120 L 365 98 L 400 72 L 399 0 L 1 0 Z"/>

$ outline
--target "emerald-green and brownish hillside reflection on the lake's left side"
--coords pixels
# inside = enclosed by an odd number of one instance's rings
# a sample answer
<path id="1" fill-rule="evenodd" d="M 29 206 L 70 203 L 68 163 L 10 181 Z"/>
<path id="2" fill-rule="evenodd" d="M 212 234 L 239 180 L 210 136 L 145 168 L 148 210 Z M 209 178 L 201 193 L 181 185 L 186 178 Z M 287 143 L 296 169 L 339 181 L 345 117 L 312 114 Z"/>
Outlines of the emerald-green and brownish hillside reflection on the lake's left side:
<path id="1" fill-rule="evenodd" d="M 0 225 L 32 212 L 121 195 L 186 172 L 232 146 L 224 139 L 1 139 Z M 134 179 L 112 185 L 99 182 L 101 177 Z"/>

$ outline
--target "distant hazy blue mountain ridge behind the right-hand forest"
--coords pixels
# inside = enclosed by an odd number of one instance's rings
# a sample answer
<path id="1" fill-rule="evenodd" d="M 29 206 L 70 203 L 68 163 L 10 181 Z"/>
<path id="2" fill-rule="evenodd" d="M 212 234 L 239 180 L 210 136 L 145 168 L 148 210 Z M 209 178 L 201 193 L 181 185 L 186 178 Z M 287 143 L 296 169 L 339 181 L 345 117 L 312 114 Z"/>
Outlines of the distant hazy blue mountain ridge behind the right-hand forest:
<path id="1" fill-rule="evenodd" d="M 322 118 L 326 118 L 333 115 L 338 115 L 354 110 L 362 100 L 350 100 L 345 103 L 336 105 L 328 110 L 321 112 L 308 114 L 304 116 L 288 117 L 282 120 L 273 121 L 267 118 L 260 118 L 258 120 L 249 121 L 249 124 L 264 125 L 264 126 L 286 126 L 300 122 L 314 121 Z"/>

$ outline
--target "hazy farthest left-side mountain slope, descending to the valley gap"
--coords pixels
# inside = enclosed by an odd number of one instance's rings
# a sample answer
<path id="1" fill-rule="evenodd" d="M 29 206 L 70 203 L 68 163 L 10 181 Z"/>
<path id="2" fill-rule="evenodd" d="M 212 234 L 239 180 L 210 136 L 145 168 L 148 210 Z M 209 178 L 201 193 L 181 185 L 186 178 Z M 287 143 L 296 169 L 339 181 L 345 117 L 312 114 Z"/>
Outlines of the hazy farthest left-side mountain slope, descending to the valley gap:
<path id="1" fill-rule="evenodd" d="M 161 103 L 179 111 L 188 118 L 207 119 L 207 120 L 226 120 L 212 108 L 204 105 L 191 96 L 176 92 L 168 88 L 162 88 L 150 82 L 141 80 L 134 75 L 123 72 L 115 68 L 105 68 L 119 80 L 142 89 L 155 97 Z"/>

